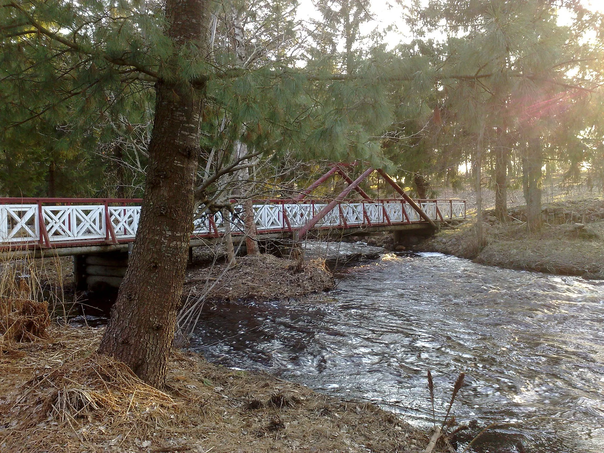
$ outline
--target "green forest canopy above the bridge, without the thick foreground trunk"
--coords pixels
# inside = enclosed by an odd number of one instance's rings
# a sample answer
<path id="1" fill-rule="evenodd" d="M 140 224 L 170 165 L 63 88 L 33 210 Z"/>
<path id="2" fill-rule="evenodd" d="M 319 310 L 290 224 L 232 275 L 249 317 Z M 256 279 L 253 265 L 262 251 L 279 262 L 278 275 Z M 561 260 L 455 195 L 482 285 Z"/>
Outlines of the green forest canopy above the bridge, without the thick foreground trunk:
<path id="1" fill-rule="evenodd" d="M 57 29 L 74 9 L 69 2 L 27 4 L 45 5 Z M 260 152 L 253 179 L 272 183 L 257 188 L 258 196 L 278 197 L 323 170 L 321 162 L 312 165 L 317 160 L 362 158 L 389 165 L 399 181 L 426 198 L 437 195 L 435 188 L 474 185 L 482 141 L 481 183 L 501 193 L 501 214 L 507 187 L 522 187 L 529 201 L 530 188 L 540 188 L 542 177 L 553 173 L 562 172 L 566 184 L 601 191 L 602 18 L 597 7 L 587 1 L 422 4 L 214 5 L 217 65 L 249 71 L 295 68 L 306 75 L 355 79 L 273 86 L 270 93 L 249 74 L 215 81 L 204 146 L 215 157 L 204 170 L 220 166 L 219 158 L 224 166 L 237 154 L 237 144 L 251 146 Z M 91 45 L 103 41 L 116 53 L 134 43 L 133 29 L 124 30 L 124 24 L 140 22 L 154 33 L 161 27 L 159 3 L 91 2 L 76 9 L 71 27 L 88 34 Z M 56 42 L 44 42 L 48 37 L 39 32 L 24 34 L 14 27 L 14 11 L 4 8 L 4 13 L 2 196 L 142 196 L 153 81 L 103 74 L 87 85 L 106 62 L 90 56 L 74 65 Z M 396 18 L 392 24 L 377 22 L 388 13 Z M 115 27 L 120 34 L 112 36 Z M 41 54 L 47 44 L 60 55 Z M 138 52 L 149 53 L 149 43 L 137 45 Z M 284 115 L 289 118 L 274 121 L 270 116 L 288 97 L 298 109 L 290 106 Z M 309 121 L 301 124 L 303 119 Z M 284 140 L 288 121 L 296 125 L 297 136 Z M 281 165 L 284 156 L 288 164 Z"/>

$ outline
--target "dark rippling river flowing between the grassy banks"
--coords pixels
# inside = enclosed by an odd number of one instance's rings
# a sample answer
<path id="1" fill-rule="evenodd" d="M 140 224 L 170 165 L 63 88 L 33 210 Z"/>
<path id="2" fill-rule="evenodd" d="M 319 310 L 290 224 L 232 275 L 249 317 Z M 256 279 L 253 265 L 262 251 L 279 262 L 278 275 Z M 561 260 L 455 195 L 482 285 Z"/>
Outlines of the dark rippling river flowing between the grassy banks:
<path id="1" fill-rule="evenodd" d="M 192 347 L 426 427 L 427 371 L 439 423 L 463 371 L 457 420 L 515 423 L 475 451 L 604 452 L 604 281 L 428 253 L 385 255 L 338 277 L 322 300 L 208 305 Z"/>

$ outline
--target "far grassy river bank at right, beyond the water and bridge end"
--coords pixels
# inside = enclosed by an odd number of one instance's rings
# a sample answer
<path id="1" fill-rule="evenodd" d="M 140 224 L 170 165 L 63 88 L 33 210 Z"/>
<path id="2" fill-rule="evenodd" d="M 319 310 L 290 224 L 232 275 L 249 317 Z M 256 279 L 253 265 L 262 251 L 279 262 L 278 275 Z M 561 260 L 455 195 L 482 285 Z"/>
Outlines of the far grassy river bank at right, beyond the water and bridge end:
<path id="1" fill-rule="evenodd" d="M 604 202 L 601 199 L 544 207 L 543 228 L 527 231 L 522 208 L 509 211 L 510 222 L 484 214 L 485 244 L 478 246 L 475 220 L 443 228 L 414 247 L 474 262 L 522 271 L 604 278 Z M 550 222 L 550 223 L 547 223 Z M 583 223 L 584 222 L 584 223 Z"/>

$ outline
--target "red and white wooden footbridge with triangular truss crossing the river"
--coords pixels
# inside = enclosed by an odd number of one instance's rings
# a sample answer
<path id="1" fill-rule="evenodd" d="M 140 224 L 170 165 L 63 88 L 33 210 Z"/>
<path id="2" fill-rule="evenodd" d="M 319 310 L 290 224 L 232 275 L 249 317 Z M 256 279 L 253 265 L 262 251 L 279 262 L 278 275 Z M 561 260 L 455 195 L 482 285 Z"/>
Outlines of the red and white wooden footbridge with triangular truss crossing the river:
<path id="1" fill-rule="evenodd" d="M 359 184 L 379 172 L 401 198 L 371 199 Z M 309 194 L 338 173 L 349 185 L 337 196 L 310 199 Z M 350 193 L 355 191 L 358 198 Z M 135 240 L 141 199 L 0 198 L 2 254 L 82 255 L 119 251 Z M 336 230 L 342 235 L 400 231 L 412 225 L 434 227 L 437 222 L 466 217 L 466 202 L 456 199 L 411 199 L 382 170 L 367 169 L 355 181 L 342 165 L 303 190 L 296 199 L 252 201 L 258 239 L 301 239 L 311 232 Z M 233 236 L 243 236 L 244 214 L 229 214 Z M 194 220 L 191 246 L 216 242 L 225 232 L 222 213 L 202 214 Z"/>

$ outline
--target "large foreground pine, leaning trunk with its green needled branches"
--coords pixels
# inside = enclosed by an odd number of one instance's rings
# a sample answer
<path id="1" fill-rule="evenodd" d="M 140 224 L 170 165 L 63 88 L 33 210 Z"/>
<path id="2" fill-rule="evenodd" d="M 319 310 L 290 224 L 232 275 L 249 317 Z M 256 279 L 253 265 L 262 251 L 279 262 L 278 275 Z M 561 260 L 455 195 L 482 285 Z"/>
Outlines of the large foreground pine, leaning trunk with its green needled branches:
<path id="1" fill-rule="evenodd" d="M 134 116 L 143 117 L 147 97 L 140 94 L 155 91 L 137 240 L 100 352 L 158 387 L 196 200 L 211 208 L 220 177 L 262 153 L 379 165 L 370 138 L 390 120 L 376 66 L 366 63 L 362 80 L 316 65 L 301 71 L 273 54 L 242 68 L 232 48 L 213 47 L 211 12 L 206 0 L 169 0 L 163 11 L 159 4 L 59 0 L 5 2 L 0 16 L 2 140 L 38 119 L 69 124 L 74 140 L 84 140 L 90 124 L 103 125 L 101 136 L 139 99 Z M 232 127 L 221 127 L 225 118 Z M 225 141 L 253 151 L 234 160 Z M 199 179 L 208 162 L 213 174 Z"/>

